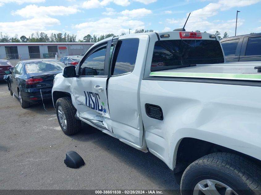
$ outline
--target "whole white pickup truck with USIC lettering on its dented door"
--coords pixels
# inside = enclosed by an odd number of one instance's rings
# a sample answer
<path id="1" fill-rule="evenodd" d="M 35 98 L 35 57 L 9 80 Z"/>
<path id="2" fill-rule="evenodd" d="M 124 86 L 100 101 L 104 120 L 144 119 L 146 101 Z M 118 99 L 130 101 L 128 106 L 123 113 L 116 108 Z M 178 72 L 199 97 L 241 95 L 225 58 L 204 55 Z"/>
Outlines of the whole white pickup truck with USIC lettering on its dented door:
<path id="1" fill-rule="evenodd" d="M 61 129 L 81 123 L 173 170 L 183 195 L 261 193 L 260 63 L 225 63 L 208 33 L 148 32 L 93 45 L 53 84 Z"/>

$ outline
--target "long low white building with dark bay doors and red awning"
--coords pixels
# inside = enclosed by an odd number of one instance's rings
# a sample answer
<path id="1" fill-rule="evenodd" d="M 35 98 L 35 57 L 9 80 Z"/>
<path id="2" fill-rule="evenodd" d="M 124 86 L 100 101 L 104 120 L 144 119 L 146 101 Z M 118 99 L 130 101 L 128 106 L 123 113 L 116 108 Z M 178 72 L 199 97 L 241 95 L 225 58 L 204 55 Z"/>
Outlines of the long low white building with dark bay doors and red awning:
<path id="1" fill-rule="evenodd" d="M 58 58 L 81 55 L 94 43 L 0 43 L 0 59 Z"/>

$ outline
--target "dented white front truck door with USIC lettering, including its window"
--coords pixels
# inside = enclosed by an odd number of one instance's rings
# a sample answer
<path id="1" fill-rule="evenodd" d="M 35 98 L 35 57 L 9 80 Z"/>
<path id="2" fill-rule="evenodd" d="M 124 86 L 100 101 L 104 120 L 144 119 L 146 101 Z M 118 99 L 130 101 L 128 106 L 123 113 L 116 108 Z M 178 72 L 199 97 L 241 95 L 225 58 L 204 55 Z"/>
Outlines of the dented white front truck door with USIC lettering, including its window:
<path id="1" fill-rule="evenodd" d="M 100 128 L 111 131 L 106 85 L 109 72 L 108 59 L 112 39 L 103 42 L 82 59 L 73 78 L 77 116 Z"/>

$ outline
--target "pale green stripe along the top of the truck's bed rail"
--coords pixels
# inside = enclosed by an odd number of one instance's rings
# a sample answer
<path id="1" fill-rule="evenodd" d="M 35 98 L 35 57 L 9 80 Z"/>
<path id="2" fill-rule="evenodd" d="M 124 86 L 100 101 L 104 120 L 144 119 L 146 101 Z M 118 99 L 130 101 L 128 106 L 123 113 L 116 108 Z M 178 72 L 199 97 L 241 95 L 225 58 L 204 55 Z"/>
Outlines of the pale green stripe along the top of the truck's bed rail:
<path id="1" fill-rule="evenodd" d="M 226 74 L 226 73 L 194 73 L 194 72 L 151 72 L 150 76 L 173 76 L 173 77 L 207 77 L 226 79 L 261 79 L 261 74 Z"/>

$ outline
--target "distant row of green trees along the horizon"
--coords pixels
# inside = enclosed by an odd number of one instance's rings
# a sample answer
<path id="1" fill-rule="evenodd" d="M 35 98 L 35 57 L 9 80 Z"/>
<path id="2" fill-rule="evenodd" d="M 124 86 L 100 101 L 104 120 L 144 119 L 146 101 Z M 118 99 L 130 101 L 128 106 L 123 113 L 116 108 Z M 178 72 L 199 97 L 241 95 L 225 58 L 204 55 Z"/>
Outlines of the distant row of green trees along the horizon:
<path id="1" fill-rule="evenodd" d="M 145 29 L 136 29 L 133 33 L 143 33 L 143 32 L 153 32 L 153 30 L 145 30 Z M 196 30 L 195 32 L 200 32 L 199 30 Z M 206 31 L 205 31 L 206 32 Z M 253 34 L 253 33 L 250 33 Z M 69 35 L 67 33 L 52 33 L 50 36 L 48 36 L 44 32 L 39 32 L 36 31 L 35 33 L 32 33 L 28 38 L 24 35 L 22 35 L 20 38 L 18 38 L 18 34 L 15 34 L 14 37 L 10 37 L 8 34 L 3 34 L 0 32 L 0 42 L 1 43 L 7 43 L 7 42 L 12 42 L 12 43 L 61 43 L 61 42 L 91 42 L 91 43 L 96 43 L 99 42 L 103 39 L 109 38 L 109 37 L 117 37 L 117 36 L 122 36 L 126 35 L 126 33 L 121 33 L 121 35 L 114 35 L 112 33 L 105 34 L 105 35 L 93 35 L 91 36 L 90 34 L 86 35 L 83 37 L 83 39 L 78 39 L 76 40 L 77 35 Z M 215 35 L 221 39 L 228 38 L 229 36 L 227 35 L 227 32 L 224 33 L 223 37 L 221 37 L 221 34 L 219 31 L 216 31 Z"/>

